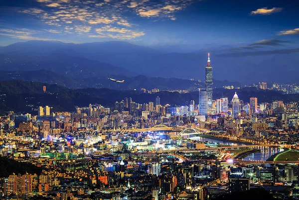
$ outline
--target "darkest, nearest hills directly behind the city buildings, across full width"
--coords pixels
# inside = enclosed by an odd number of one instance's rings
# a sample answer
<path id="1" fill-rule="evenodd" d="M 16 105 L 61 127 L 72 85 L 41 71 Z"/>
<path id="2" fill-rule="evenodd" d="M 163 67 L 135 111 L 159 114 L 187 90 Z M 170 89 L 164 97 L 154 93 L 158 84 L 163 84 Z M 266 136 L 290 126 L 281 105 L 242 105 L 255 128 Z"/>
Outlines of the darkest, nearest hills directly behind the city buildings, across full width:
<path id="1" fill-rule="evenodd" d="M 46 92 L 43 92 L 46 86 Z M 250 97 L 257 97 L 258 102 L 298 101 L 299 94 L 284 95 L 276 91 L 264 91 L 256 88 L 241 90 L 215 89 L 213 99 L 228 97 L 232 99 L 235 91 L 240 100 L 248 102 Z M 155 94 L 140 94 L 138 91 L 120 91 L 111 89 L 78 89 L 72 90 L 63 86 L 49 85 L 38 82 L 0 81 L 0 113 L 5 111 L 21 111 L 36 113 L 38 106 L 49 105 L 53 111 L 74 111 L 75 106 L 88 106 L 89 103 L 98 103 L 105 106 L 114 106 L 115 101 L 131 97 L 137 103 L 148 103 L 159 96 L 161 104 L 188 105 L 190 100 L 198 103 L 198 92 L 180 94 L 177 92 L 159 92 Z"/>

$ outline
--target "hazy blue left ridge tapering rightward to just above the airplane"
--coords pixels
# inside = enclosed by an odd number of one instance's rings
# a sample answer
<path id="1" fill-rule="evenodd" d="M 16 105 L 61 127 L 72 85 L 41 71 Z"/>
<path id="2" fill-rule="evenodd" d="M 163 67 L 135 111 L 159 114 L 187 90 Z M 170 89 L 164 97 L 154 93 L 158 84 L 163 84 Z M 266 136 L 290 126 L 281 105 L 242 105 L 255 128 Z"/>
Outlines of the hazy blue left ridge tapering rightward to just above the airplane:
<path id="1" fill-rule="evenodd" d="M 40 69 L 46 69 L 69 77 L 80 78 L 102 77 L 111 74 L 125 76 L 134 75 L 134 73 L 129 70 L 113 66 L 109 63 L 69 56 L 62 53 L 52 53 L 43 56 L 28 56 L 19 53 L 0 54 L 1 71 Z"/>

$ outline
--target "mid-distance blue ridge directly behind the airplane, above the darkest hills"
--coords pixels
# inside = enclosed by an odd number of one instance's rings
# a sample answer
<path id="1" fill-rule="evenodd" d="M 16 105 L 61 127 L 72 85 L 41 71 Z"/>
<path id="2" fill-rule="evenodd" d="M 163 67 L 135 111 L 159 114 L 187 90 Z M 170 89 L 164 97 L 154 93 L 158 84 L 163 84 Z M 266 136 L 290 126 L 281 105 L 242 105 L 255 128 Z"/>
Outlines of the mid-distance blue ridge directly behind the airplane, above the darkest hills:
<path id="1" fill-rule="evenodd" d="M 47 84 L 57 84 L 72 89 L 79 88 L 109 88 L 116 90 L 134 90 L 138 91 L 141 88 L 151 90 L 157 88 L 159 90 L 197 90 L 204 87 L 204 83 L 198 81 L 177 79 L 177 78 L 161 78 L 147 77 L 143 75 L 127 77 L 121 75 L 113 75 L 109 78 L 125 80 L 124 83 L 113 82 L 105 77 L 75 77 L 70 78 L 67 74 L 62 75 L 49 70 L 34 70 L 34 71 L 0 71 L 0 81 L 21 80 L 33 81 Z M 225 85 L 240 86 L 240 83 L 231 83 L 228 81 L 214 80 L 214 87 L 222 88 Z"/>

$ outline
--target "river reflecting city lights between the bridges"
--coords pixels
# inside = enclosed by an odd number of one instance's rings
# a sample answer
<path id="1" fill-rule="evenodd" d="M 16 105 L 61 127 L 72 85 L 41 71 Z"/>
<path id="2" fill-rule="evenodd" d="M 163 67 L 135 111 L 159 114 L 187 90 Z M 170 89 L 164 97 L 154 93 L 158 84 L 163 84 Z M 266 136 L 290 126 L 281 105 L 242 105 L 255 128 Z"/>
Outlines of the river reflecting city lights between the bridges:
<path id="1" fill-rule="evenodd" d="M 219 144 L 224 144 L 224 145 L 230 145 L 230 146 L 235 146 L 235 145 L 246 145 L 242 142 L 234 142 L 234 141 L 229 141 L 229 140 L 221 140 L 217 139 L 216 137 L 191 137 L 190 139 L 192 140 L 198 140 L 202 142 L 209 142 L 209 143 L 214 143 L 215 145 L 217 143 Z M 279 147 L 259 147 L 261 149 L 260 152 L 253 153 L 245 157 L 243 160 L 261 160 L 261 161 L 266 161 L 268 158 L 270 158 L 273 154 L 279 153 L 281 151 L 284 151 L 284 149 L 279 148 Z"/>

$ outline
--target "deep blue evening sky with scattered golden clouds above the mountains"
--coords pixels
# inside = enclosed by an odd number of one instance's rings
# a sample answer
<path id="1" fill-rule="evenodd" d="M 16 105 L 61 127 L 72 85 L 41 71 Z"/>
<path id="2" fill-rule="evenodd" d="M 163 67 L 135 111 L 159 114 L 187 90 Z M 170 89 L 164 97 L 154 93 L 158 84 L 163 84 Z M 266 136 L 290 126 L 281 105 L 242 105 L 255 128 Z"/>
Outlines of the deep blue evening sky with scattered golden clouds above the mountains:
<path id="1" fill-rule="evenodd" d="M 299 1 L 1 0 L 0 45 L 33 39 L 292 49 L 299 46 Z"/>

